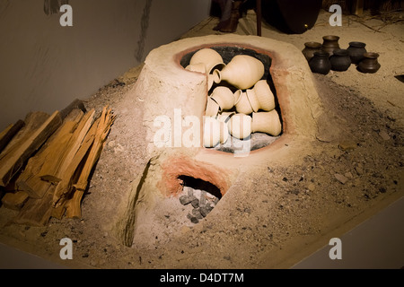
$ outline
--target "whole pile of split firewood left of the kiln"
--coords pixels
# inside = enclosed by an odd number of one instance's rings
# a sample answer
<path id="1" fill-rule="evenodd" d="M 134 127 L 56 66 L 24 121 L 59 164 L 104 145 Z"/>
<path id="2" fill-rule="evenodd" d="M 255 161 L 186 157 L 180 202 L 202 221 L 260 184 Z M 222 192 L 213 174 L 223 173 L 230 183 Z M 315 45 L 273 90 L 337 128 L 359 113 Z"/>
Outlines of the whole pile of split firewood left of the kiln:
<path id="1" fill-rule="evenodd" d="M 0 133 L 0 197 L 13 222 L 81 218 L 81 201 L 115 117 L 75 100 L 52 115 L 34 112 Z"/>

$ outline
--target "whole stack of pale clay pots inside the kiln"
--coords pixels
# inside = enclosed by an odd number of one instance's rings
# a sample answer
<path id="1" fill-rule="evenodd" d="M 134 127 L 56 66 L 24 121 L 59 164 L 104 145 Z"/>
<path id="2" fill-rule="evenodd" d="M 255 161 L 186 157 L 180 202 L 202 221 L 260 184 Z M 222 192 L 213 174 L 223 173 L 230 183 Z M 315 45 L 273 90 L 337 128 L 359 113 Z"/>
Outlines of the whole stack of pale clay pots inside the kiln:
<path id="1" fill-rule="evenodd" d="M 209 80 L 205 147 L 226 143 L 229 134 L 241 140 L 255 132 L 280 135 L 282 124 L 275 98 L 267 81 L 261 80 L 265 68 L 259 59 L 237 55 L 225 65 L 214 49 L 203 48 L 194 54 L 187 69 L 192 71 L 197 66 Z"/>

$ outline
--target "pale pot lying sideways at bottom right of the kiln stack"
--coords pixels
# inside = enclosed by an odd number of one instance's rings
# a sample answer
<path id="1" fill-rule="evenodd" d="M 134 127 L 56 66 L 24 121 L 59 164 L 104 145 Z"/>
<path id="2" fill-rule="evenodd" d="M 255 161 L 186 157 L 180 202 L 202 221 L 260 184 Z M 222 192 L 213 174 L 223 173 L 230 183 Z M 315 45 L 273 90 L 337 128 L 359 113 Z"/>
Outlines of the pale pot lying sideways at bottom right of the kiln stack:
<path id="1" fill-rule="evenodd" d="M 259 132 L 273 136 L 280 135 L 282 132 L 282 124 L 277 110 L 252 113 L 251 131 L 252 133 Z"/>

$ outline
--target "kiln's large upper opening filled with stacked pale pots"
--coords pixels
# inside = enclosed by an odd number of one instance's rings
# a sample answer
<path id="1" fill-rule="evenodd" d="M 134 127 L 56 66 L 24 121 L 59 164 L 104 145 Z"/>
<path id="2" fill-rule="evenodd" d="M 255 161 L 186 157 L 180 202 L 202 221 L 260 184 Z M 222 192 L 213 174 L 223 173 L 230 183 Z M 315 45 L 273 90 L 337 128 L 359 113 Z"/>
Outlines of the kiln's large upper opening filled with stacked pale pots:
<path id="1" fill-rule="evenodd" d="M 282 135 L 271 64 L 269 55 L 238 45 L 199 48 L 181 57 L 182 67 L 207 76 L 205 148 L 250 152 Z"/>

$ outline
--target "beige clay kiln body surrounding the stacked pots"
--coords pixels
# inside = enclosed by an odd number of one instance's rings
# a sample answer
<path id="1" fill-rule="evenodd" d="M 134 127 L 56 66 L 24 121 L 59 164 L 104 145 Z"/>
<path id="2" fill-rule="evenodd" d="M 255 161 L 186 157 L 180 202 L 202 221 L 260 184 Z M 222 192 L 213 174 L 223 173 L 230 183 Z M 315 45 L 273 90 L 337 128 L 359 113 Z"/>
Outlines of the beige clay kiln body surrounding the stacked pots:
<path id="1" fill-rule="evenodd" d="M 255 57 L 268 59 L 264 63 L 265 73 L 273 83 L 283 125 L 282 135 L 274 143 L 242 156 L 206 149 L 203 144 L 182 144 L 185 119 L 200 118 L 202 125 L 206 110 L 207 74 L 184 68 L 189 57 L 201 48 L 231 48 L 228 50 L 249 51 Z M 224 196 L 245 170 L 270 166 L 276 161 L 299 161 L 302 146 L 315 138 L 317 119 L 322 113 L 312 73 L 301 51 L 290 44 L 256 36 L 206 36 L 156 48 L 146 58 L 131 93 L 145 99 L 145 141 L 150 161 L 123 199 L 113 227 L 127 246 L 134 237 L 139 209 L 153 210 L 162 198 L 178 196 L 184 177 L 209 182 Z M 171 123 L 171 136 L 160 145 L 154 141 L 162 128 L 161 122 L 156 125 L 159 117 Z"/>

